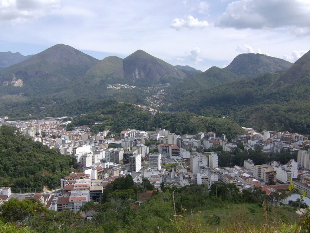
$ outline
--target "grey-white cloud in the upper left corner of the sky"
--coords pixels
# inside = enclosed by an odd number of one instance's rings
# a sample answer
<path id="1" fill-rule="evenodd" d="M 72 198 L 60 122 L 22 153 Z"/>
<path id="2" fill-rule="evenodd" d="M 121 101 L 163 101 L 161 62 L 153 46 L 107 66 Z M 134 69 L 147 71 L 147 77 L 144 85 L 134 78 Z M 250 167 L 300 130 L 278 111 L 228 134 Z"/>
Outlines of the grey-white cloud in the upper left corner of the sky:
<path id="1" fill-rule="evenodd" d="M 13 24 L 37 19 L 50 9 L 61 7 L 61 0 L 2 0 L 0 2 L 0 22 Z"/>

